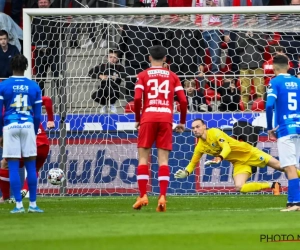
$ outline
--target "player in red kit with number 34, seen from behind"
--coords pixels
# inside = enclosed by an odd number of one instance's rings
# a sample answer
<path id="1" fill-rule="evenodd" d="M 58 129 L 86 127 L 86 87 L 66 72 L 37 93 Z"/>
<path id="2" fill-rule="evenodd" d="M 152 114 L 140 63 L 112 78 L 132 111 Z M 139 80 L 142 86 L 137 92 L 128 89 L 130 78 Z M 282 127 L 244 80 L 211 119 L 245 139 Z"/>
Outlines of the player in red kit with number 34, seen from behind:
<path id="1" fill-rule="evenodd" d="M 158 152 L 158 180 L 160 196 L 156 211 L 166 211 L 166 193 L 170 180 L 168 166 L 169 153 L 172 150 L 172 124 L 174 94 L 180 103 L 180 124 L 176 131 L 183 132 L 187 112 L 187 100 L 179 78 L 172 71 L 163 68 L 167 50 L 162 46 L 149 49 L 151 67 L 138 74 L 135 85 L 135 119 L 138 131 L 137 181 L 140 197 L 133 205 L 134 209 L 141 209 L 148 205 L 147 183 L 149 180 L 148 160 L 153 143 Z M 140 114 L 143 99 L 142 115 Z"/>

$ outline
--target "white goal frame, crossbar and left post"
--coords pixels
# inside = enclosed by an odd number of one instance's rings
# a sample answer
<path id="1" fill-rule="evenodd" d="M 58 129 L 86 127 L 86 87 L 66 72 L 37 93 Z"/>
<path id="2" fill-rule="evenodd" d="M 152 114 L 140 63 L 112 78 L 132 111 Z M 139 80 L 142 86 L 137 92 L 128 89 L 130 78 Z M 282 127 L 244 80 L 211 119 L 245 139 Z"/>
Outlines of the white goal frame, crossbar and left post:
<path id="1" fill-rule="evenodd" d="M 292 14 L 297 13 L 300 6 L 242 6 L 242 7 L 162 7 L 156 8 L 157 15 L 196 15 L 196 14 Z M 23 51 L 28 58 L 25 76 L 32 78 L 31 60 L 31 18 L 34 16 L 59 15 L 153 15 L 151 8 L 49 8 L 23 9 Z M 217 28 L 217 27 L 215 27 Z M 213 29 L 213 27 L 212 27 Z"/>

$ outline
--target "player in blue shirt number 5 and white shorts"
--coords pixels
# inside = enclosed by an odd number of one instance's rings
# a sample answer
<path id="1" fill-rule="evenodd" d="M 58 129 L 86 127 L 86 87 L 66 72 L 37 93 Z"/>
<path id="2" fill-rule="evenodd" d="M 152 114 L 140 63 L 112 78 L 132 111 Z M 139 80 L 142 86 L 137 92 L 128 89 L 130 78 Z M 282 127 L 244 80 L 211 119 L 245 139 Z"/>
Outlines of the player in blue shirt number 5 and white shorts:
<path id="1" fill-rule="evenodd" d="M 268 134 L 270 138 L 277 138 L 280 166 L 288 178 L 287 208 L 281 211 L 298 211 L 300 210 L 300 182 L 297 175 L 300 157 L 300 79 L 287 74 L 289 60 L 286 56 L 274 57 L 273 68 L 276 77 L 269 84 L 266 113 Z"/>

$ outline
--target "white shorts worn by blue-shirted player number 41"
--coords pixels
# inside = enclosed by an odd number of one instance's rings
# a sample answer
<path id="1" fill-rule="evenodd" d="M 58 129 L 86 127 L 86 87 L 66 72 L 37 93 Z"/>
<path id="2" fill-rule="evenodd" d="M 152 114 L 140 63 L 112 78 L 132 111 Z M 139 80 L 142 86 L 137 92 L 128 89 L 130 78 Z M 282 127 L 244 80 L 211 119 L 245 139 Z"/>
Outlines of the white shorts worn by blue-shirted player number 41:
<path id="1" fill-rule="evenodd" d="M 3 127 L 3 158 L 36 156 L 36 136 L 31 122 L 11 123 Z"/>

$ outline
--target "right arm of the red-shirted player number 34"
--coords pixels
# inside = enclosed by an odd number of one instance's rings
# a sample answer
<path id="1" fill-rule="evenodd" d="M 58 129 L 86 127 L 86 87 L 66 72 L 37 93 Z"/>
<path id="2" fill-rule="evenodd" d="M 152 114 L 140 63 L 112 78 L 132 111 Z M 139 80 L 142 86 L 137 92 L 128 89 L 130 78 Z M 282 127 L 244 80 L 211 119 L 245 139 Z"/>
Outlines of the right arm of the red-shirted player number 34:
<path id="1" fill-rule="evenodd" d="M 178 132 L 183 132 L 185 129 L 186 113 L 187 113 L 187 99 L 183 91 L 183 87 L 177 75 L 175 75 L 175 89 L 174 92 L 178 97 L 180 104 L 180 124 L 177 126 Z"/>

